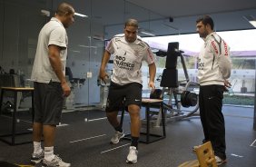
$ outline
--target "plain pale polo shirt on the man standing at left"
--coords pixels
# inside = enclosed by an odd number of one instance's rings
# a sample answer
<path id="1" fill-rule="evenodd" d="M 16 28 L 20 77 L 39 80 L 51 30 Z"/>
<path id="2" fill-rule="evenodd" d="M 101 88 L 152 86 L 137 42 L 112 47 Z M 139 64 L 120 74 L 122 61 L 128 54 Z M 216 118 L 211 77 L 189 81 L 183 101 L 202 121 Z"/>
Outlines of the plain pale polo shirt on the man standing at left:
<path id="1" fill-rule="evenodd" d="M 38 83 L 60 82 L 50 64 L 48 46 L 54 44 L 62 47 L 60 58 L 62 71 L 65 73 L 68 38 L 64 25 L 55 17 L 44 25 L 38 36 L 31 80 Z"/>

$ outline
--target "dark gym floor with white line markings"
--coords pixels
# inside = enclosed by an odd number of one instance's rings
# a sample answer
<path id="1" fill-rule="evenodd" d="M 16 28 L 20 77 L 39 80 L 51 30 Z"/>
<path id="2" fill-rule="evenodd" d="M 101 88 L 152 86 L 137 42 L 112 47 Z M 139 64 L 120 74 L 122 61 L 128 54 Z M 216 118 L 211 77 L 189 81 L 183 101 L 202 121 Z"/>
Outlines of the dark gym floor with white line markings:
<path id="1" fill-rule="evenodd" d="M 227 163 L 223 167 L 256 166 L 256 131 L 253 131 L 253 107 L 223 106 L 226 124 Z M 143 113 L 142 113 L 143 115 Z M 84 121 L 87 118 L 87 122 Z M 100 119 L 99 119 L 100 118 Z M 17 131 L 31 127 L 30 113 L 18 113 Z M 0 135 L 10 131 L 11 119 L 0 115 Z M 124 116 L 124 133 L 130 133 L 129 116 Z M 57 128 L 54 152 L 73 167 L 177 167 L 196 159 L 192 146 L 202 142 L 199 117 L 166 124 L 166 138 L 149 144 L 139 144 L 138 162 L 126 164 L 130 142 L 111 144 L 114 133 L 100 110 L 63 113 Z M 31 141 L 32 134 L 16 137 L 16 142 Z M 0 161 L 29 164 L 32 143 L 10 146 L 0 142 Z M 37 165 L 41 166 L 41 165 Z"/>

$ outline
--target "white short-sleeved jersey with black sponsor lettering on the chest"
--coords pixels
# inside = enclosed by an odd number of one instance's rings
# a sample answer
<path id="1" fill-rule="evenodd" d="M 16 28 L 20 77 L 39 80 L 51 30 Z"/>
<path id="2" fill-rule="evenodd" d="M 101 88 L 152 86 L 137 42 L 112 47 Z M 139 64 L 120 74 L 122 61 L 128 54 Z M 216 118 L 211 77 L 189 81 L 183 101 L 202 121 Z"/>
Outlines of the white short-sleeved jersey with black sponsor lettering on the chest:
<path id="1" fill-rule="evenodd" d="M 117 34 L 107 45 L 106 51 L 113 54 L 112 82 L 120 85 L 143 83 L 142 63 L 154 63 L 154 56 L 148 44 L 138 36 L 133 43 L 125 40 L 124 34 Z"/>

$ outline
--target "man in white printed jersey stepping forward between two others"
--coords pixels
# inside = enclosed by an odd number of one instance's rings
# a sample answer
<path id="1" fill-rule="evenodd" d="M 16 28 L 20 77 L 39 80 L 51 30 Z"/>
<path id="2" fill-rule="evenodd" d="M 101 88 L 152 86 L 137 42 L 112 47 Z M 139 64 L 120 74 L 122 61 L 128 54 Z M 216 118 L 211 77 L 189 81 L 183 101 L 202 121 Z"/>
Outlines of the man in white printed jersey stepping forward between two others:
<path id="1" fill-rule="evenodd" d="M 123 138 L 123 128 L 117 119 L 117 114 L 122 105 L 131 117 L 132 142 L 126 162 L 137 162 L 138 140 L 141 129 L 140 109 L 142 104 L 142 63 L 149 66 L 149 87 L 154 89 L 156 67 L 154 56 L 148 44 L 137 36 L 138 22 L 128 19 L 124 25 L 124 34 L 117 34 L 107 45 L 103 54 L 99 77 L 105 81 L 108 74 L 105 72 L 111 54 L 113 54 L 113 74 L 109 89 L 106 115 L 112 124 L 115 134 L 112 143 L 118 143 Z"/>

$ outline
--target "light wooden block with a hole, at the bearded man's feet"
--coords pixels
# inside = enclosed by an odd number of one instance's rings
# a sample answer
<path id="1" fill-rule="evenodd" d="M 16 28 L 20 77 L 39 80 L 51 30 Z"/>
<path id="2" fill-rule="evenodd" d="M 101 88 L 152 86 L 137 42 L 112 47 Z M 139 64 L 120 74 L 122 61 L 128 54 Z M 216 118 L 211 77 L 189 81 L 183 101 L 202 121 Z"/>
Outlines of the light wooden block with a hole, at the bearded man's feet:
<path id="1" fill-rule="evenodd" d="M 203 143 L 195 152 L 197 160 L 183 162 L 179 167 L 217 167 L 211 142 Z"/>

